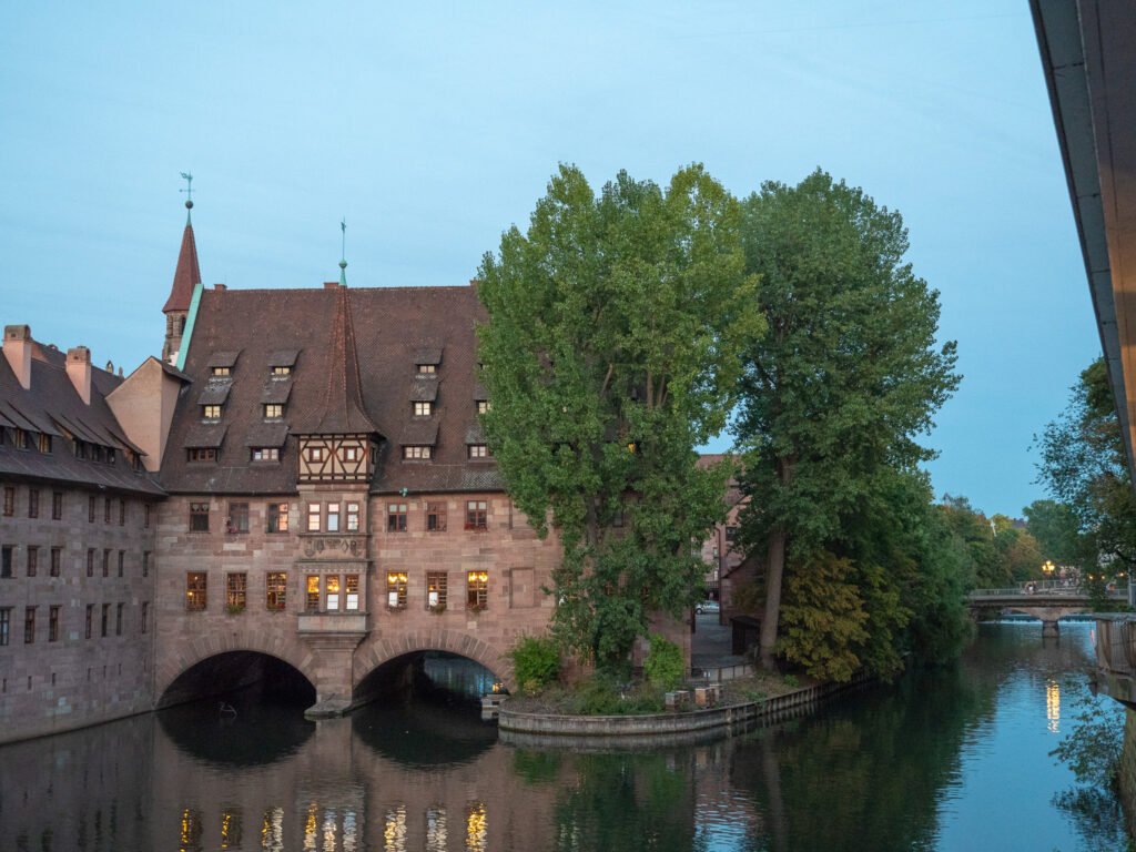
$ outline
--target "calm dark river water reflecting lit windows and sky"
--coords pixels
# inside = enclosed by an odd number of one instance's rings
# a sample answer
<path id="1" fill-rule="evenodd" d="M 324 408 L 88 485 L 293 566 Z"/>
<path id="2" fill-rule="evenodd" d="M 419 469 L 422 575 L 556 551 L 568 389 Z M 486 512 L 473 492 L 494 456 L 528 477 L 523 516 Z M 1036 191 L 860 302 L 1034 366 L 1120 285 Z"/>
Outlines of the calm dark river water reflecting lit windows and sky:
<path id="1" fill-rule="evenodd" d="M 1114 818 L 1054 797 L 1092 624 L 982 625 L 957 667 L 807 718 L 633 753 L 500 742 L 441 693 L 304 721 L 185 705 L 0 747 L 0 849 L 1100 850 Z M 438 679 L 477 691 L 463 661 Z M 1118 721 L 1119 724 L 1119 721 Z"/>

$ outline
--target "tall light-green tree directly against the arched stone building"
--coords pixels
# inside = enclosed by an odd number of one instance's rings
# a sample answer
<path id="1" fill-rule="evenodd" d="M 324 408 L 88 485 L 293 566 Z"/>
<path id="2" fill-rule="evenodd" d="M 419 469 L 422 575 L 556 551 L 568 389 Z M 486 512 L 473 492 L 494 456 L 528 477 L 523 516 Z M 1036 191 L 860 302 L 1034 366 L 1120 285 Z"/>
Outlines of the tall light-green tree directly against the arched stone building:
<path id="1" fill-rule="evenodd" d="M 694 448 L 725 426 L 737 341 L 760 331 L 740 220 L 701 166 L 666 192 L 621 172 L 599 198 L 561 166 L 527 234 L 478 272 L 482 425 L 529 524 L 558 528 L 553 633 L 601 668 L 649 613 L 702 594 L 696 550 L 730 470 L 698 468 Z"/>

